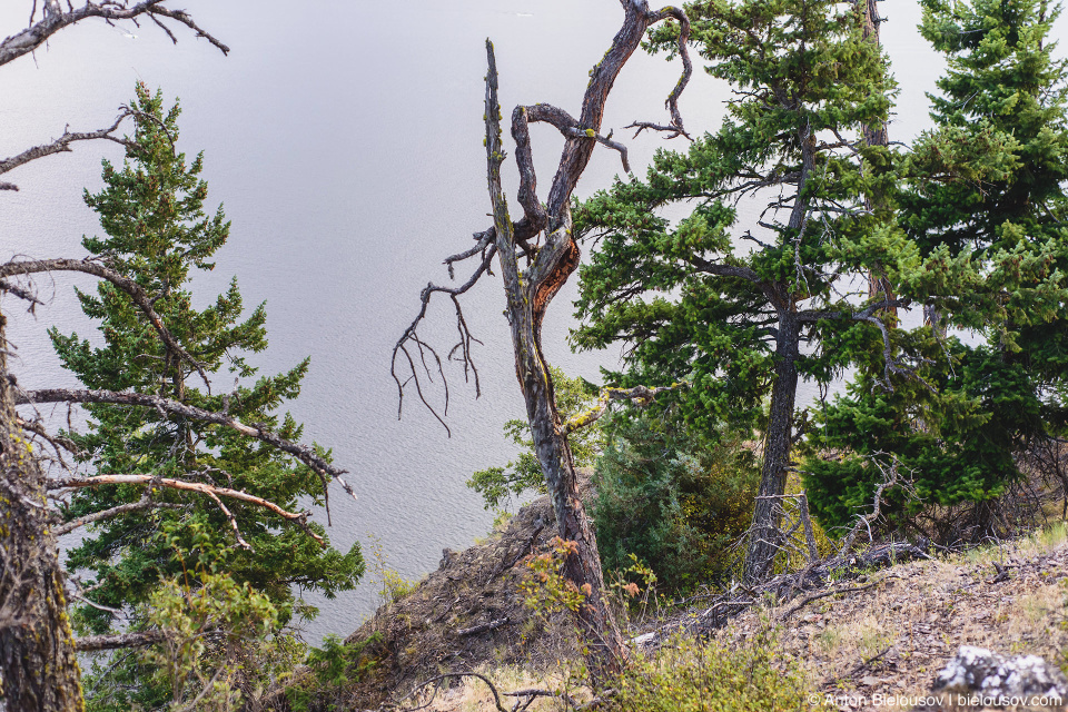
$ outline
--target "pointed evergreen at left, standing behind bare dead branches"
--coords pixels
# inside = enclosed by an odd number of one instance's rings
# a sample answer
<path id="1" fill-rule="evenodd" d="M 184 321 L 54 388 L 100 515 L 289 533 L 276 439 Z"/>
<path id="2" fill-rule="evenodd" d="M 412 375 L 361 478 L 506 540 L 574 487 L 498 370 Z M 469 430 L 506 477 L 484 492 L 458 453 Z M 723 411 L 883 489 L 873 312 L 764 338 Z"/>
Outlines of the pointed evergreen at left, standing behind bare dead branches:
<path id="1" fill-rule="evenodd" d="M 188 357 L 169 348 L 125 294 L 101 283 L 96 294 L 78 295 L 86 315 L 100 323 L 99 345 L 78 335 L 50 333 L 63 366 L 88 388 L 165 396 L 266 424 L 285 438 L 299 437 L 300 426 L 278 409 L 298 395 L 307 359 L 287 373 L 253 382 L 257 369 L 247 357 L 267 347 L 264 305 L 243 319 L 235 279 L 206 308 L 194 306 L 189 281 L 196 270 L 214 267 L 210 260 L 225 244 L 229 222 L 221 207 L 212 215 L 205 212 L 202 155 L 189 162 L 175 147 L 178 106 L 165 110 L 162 95 L 152 96 L 139 85 L 131 108 L 136 130 L 122 167 L 105 161 L 103 189 L 95 195 L 86 191 L 86 202 L 99 214 L 105 236 L 87 237 L 83 246 L 152 295 L 156 313 Z M 209 393 L 201 374 L 207 377 L 225 373 L 224 368 L 241 385 L 229 394 Z M 95 474 L 207 482 L 244 490 L 290 511 L 299 511 L 298 498 L 323 504 L 323 483 L 310 468 L 230 428 L 148 408 L 90 405 L 87 409 L 87 432 L 72 437 L 83 452 L 85 466 Z M 142 494 L 145 488 L 135 486 L 85 490 L 73 495 L 65 514 L 72 520 L 136 503 Z M 283 623 L 295 614 L 306 619 L 315 614 L 294 595 L 294 589 L 333 596 L 352 589 L 364 571 L 358 546 L 348 553 L 323 547 L 299 527 L 255 505 L 227 505 L 248 544 L 244 547 L 211 500 L 179 497 L 162 488 L 152 490 L 152 498 L 162 506 L 91 525 L 89 535 L 68 553 L 69 568 L 91 576 L 86 604 L 76 611 L 76 624 L 82 630 L 103 633 L 146 625 L 145 606 L 164 582 L 180 577 L 188 584 L 195 581 L 190 574 L 204 566 L 266 594 Z M 324 534 L 319 525 L 310 526 Z M 224 553 L 212 548 L 210 562 L 204 561 L 205 532 L 225 542 L 218 548 Z M 119 666 L 115 674 L 121 676 L 122 670 Z M 138 704 L 155 706 L 167 694 L 146 680 L 137 683 Z M 108 704 L 130 703 L 126 694 Z"/>

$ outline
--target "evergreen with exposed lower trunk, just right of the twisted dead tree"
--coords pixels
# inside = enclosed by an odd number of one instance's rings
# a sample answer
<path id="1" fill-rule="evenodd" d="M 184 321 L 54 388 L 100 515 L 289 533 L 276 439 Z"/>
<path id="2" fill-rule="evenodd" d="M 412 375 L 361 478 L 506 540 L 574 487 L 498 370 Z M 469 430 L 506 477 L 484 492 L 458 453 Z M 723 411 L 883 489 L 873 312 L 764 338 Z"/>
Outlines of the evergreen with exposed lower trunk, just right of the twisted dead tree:
<path id="1" fill-rule="evenodd" d="M 581 347 L 633 345 L 623 385 L 689 380 L 674 396 L 691 428 L 763 434 L 764 462 L 746 556 L 769 570 L 794 445 L 801 378 L 829 382 L 881 347 L 871 271 L 896 283 L 914 248 L 886 210 L 890 155 L 864 127 L 887 117 L 893 82 L 856 7 L 811 0 L 713 0 L 689 7 L 693 39 L 734 96 L 715 135 L 685 154 L 661 151 L 647 179 L 617 181 L 576 218 L 597 236 L 582 271 Z M 654 44 L 671 48 L 670 31 Z M 758 220 L 732 205 L 774 191 Z M 880 204 L 882 201 L 880 200 Z M 664 208 L 694 205 L 678 222 Z M 802 346 L 808 346 L 802 350 Z M 902 369 L 896 360 L 888 373 Z M 770 398 L 770 402 L 768 400 Z"/>

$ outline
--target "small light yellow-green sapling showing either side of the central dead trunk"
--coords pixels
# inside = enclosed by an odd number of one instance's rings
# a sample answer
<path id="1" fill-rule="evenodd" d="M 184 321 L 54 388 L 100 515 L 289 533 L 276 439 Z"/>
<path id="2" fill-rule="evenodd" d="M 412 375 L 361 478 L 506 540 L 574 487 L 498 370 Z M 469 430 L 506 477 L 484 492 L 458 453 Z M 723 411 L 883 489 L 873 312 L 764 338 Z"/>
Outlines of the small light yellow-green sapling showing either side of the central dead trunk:
<path id="1" fill-rule="evenodd" d="M 582 378 L 570 378 L 555 366 L 548 367 L 556 394 L 556 409 L 562 421 L 589 409 L 597 398 L 597 389 Z M 467 481 L 467 486 L 482 495 L 487 510 L 507 504 L 524 492 L 545 493 L 545 477 L 534 454 L 531 425 L 526 421 L 512 419 L 504 424 L 504 434 L 517 447 L 523 448 L 514 462 L 504 467 L 479 469 Z M 602 447 L 601 426 L 594 423 L 567 436 L 576 467 L 592 467 Z"/>

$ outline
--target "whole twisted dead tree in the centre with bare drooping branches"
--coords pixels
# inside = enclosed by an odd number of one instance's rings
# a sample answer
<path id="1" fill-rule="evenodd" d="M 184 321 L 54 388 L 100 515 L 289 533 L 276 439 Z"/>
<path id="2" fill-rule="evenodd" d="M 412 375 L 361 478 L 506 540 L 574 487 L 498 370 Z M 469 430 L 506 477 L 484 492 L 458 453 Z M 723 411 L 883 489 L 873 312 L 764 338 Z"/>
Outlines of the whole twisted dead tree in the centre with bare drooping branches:
<path id="1" fill-rule="evenodd" d="M 591 673 L 595 680 L 617 669 L 625 656 L 625 647 L 611 611 L 603 597 L 604 580 L 597 554 L 597 543 L 578 498 L 575 465 L 567 443 L 564 424 L 556 411 L 553 380 L 542 350 L 542 322 L 553 297 L 578 267 L 580 249 L 572 234 L 571 199 L 596 145 L 620 151 L 625 170 L 630 170 L 626 148 L 612 140 L 612 134 L 603 136 L 601 125 L 604 106 L 616 77 L 642 42 L 646 30 L 653 24 L 674 20 L 679 23 L 679 53 L 683 60 L 683 75 L 668 98 L 671 120 L 668 125 L 635 122 L 627 128 L 639 131 L 650 129 L 668 132 L 669 138 L 686 136 L 679 113 L 678 99 L 691 73 L 686 42 L 690 23 L 679 8 L 661 10 L 649 8 L 646 0 L 620 0 L 624 10 L 623 24 L 612 41 L 604 58 L 590 72 L 578 118 L 546 103 L 518 106 L 512 112 L 512 138 L 515 141 L 515 160 L 520 169 L 520 188 L 516 199 L 523 208 L 523 217 L 513 221 L 501 185 L 501 165 L 505 151 L 501 142 L 501 107 L 497 102 L 497 69 L 493 46 L 487 41 L 488 73 L 486 75 L 486 156 L 490 197 L 493 206 L 493 225 L 475 234 L 475 245 L 463 253 L 448 257 L 445 264 L 449 274 L 453 266 L 466 259 L 476 259 L 471 277 L 458 287 L 441 287 L 433 283 L 422 294 L 422 308 L 415 320 L 405 329 L 394 347 L 393 376 L 399 395 L 404 398 L 406 386 L 414 386 L 421 400 L 434 411 L 424 397 L 421 377 L 434 370 L 444 376 L 442 359 L 434 348 L 424 342 L 418 327 L 426 315 L 427 306 L 435 294 L 448 296 L 456 309 L 459 342 L 449 357 L 463 362 L 465 374 L 473 374 L 476 392 L 478 374 L 472 360 L 471 347 L 474 337 L 467 328 L 459 297 L 469 290 L 484 275 L 490 274 L 494 257 L 500 259 L 500 269 L 507 297 L 505 315 L 512 333 L 515 352 L 516 377 L 526 403 L 527 419 L 534 439 L 534 449 L 545 475 L 557 531 L 562 538 L 577 543 L 577 553 L 568 556 L 564 576 L 577 590 L 586 593 L 586 605 L 580 613 L 589 642 Z M 544 204 L 537 196 L 536 176 L 531 149 L 528 127 L 531 122 L 554 126 L 564 137 L 564 150 L 556 176 Z M 523 267 L 521 267 L 523 261 Z M 402 380 L 404 375 L 404 380 Z M 447 390 L 446 390 L 447 398 Z M 447 426 L 446 426 L 447 427 Z"/>

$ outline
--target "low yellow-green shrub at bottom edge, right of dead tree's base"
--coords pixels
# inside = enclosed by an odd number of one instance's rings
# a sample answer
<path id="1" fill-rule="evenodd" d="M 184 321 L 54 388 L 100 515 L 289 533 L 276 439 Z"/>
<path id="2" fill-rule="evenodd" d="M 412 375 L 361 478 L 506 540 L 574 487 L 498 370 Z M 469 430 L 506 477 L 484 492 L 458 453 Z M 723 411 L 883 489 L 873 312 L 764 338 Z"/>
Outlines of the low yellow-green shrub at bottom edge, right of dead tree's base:
<path id="1" fill-rule="evenodd" d="M 740 647 L 679 636 L 655 653 L 637 653 L 611 686 L 615 693 L 603 709 L 620 712 L 827 709 L 797 665 L 775 659 L 767 629 Z"/>

